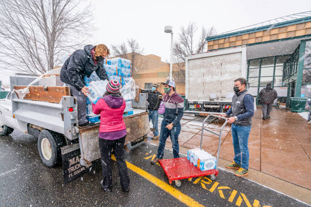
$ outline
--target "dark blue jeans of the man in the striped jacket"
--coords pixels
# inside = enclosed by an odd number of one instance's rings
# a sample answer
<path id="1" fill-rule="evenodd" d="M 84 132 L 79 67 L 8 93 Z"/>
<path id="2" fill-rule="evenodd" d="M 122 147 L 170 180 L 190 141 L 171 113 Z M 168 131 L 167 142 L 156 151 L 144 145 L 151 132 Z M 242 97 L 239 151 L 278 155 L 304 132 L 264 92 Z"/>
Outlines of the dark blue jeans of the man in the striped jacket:
<path id="1" fill-rule="evenodd" d="M 171 137 L 174 158 L 179 157 L 178 136 L 180 133 L 181 126 L 180 126 L 180 124 L 174 125 L 173 128 L 171 130 L 169 130 L 168 128 L 165 128 L 168 124 L 170 124 L 170 123 L 166 122 L 164 120 L 161 123 L 159 147 L 158 147 L 158 154 L 157 154 L 157 157 L 159 159 L 163 158 L 165 142 L 166 142 L 166 139 L 168 136 Z"/>

